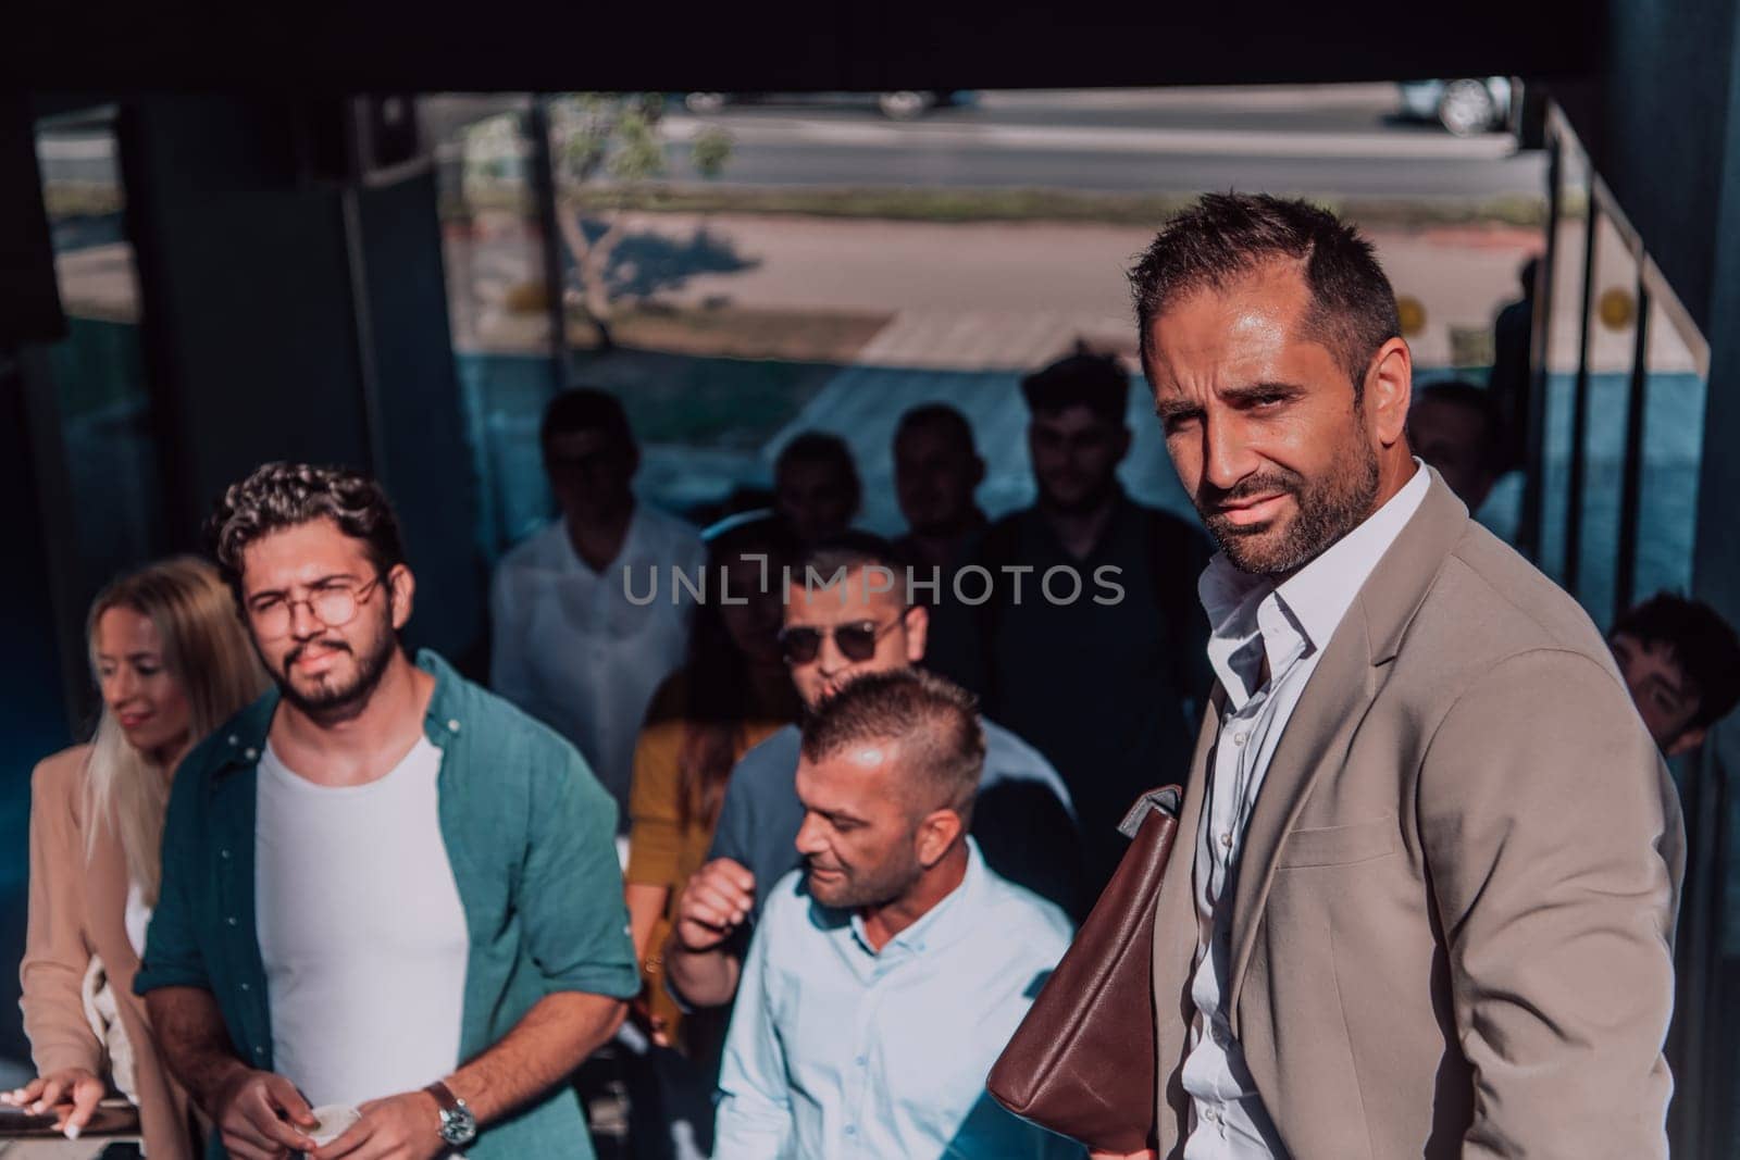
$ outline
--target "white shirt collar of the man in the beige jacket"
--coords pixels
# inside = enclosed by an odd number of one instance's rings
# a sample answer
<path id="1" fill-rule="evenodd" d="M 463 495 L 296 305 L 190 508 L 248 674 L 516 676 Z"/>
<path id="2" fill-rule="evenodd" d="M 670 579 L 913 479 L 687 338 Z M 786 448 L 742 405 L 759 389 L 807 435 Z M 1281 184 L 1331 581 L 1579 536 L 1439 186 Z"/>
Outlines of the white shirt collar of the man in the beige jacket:
<path id="1" fill-rule="evenodd" d="M 1420 510 L 1432 470 L 1415 459 L 1413 477 L 1382 508 L 1310 563 L 1277 583 L 1241 572 L 1216 551 L 1197 595 L 1209 621 L 1208 657 L 1232 706 L 1255 696 L 1263 657 L 1279 673 L 1300 654 L 1321 650 L 1340 628 L 1378 560 Z M 1262 638 L 1258 650 L 1256 640 Z"/>

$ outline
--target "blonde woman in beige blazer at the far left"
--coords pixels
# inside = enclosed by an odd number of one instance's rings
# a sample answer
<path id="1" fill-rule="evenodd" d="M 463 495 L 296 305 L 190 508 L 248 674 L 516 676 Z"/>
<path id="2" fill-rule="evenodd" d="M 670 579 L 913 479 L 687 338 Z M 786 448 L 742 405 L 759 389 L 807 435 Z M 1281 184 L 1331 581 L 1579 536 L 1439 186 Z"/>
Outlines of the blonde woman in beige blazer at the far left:
<path id="1" fill-rule="evenodd" d="M 193 558 L 148 565 L 103 590 L 85 640 L 103 692 L 96 736 L 31 776 L 19 976 L 40 1078 L 5 1099 L 56 1115 L 77 1139 L 115 1082 L 139 1106 L 151 1160 L 191 1160 L 190 1104 L 164 1070 L 132 976 L 157 903 L 176 765 L 259 696 L 264 673 L 218 570 Z M 106 995 L 92 995 L 97 970 Z"/>

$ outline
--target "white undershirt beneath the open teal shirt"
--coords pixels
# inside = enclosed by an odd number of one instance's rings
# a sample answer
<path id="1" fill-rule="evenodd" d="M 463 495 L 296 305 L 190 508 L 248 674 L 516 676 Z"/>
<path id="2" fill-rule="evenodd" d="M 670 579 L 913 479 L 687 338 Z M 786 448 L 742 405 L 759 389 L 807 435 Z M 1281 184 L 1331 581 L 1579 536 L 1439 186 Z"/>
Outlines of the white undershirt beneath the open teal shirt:
<path id="1" fill-rule="evenodd" d="M 459 1063 L 470 934 L 428 737 L 365 786 L 259 758 L 254 892 L 273 1070 L 311 1106 L 411 1092 Z"/>

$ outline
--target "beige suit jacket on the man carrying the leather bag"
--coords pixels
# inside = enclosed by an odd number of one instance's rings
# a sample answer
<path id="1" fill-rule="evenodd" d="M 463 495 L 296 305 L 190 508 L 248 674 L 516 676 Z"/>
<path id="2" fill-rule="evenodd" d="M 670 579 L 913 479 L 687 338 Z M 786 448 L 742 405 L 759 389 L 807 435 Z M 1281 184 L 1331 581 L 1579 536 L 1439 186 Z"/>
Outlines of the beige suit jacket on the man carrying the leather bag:
<path id="1" fill-rule="evenodd" d="M 1162 1157 L 1216 729 L 1155 911 Z M 1234 887 L 1232 1031 L 1288 1151 L 1665 1157 L 1681 863 L 1601 635 L 1434 477 L 1288 722 Z"/>

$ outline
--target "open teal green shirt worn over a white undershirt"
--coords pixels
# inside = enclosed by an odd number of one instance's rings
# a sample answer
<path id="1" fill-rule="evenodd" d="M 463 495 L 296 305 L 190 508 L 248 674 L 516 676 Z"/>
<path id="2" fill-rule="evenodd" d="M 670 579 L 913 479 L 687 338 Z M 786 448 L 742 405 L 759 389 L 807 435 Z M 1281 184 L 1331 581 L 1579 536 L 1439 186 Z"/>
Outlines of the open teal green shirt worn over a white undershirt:
<path id="1" fill-rule="evenodd" d="M 461 678 L 433 652 L 423 732 L 442 750 L 437 793 L 472 951 L 459 1057 L 501 1040 L 553 991 L 640 990 L 616 803 L 560 736 Z M 181 763 L 164 823 L 164 883 L 134 990 L 197 986 L 223 1009 L 237 1054 L 271 1070 L 271 1007 L 254 927 L 254 777 L 278 704 L 271 690 Z M 435 1125 L 430 1125 L 430 1132 Z M 223 1157 L 212 1136 L 209 1157 Z M 478 1134 L 473 1160 L 579 1157 L 592 1141 L 569 1085 Z"/>

